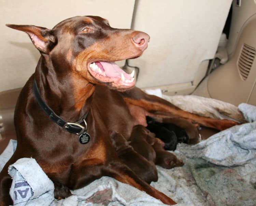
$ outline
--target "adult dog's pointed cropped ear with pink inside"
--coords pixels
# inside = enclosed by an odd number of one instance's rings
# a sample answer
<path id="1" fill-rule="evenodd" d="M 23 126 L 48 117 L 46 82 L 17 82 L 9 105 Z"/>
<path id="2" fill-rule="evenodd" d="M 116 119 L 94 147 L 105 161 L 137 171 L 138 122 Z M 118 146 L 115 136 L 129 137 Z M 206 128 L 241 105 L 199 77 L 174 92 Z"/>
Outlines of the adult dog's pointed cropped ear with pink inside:
<path id="1" fill-rule="evenodd" d="M 42 53 L 48 54 L 57 44 L 57 38 L 53 31 L 44 27 L 34 25 L 6 24 L 7 27 L 26 32 L 35 47 Z"/>

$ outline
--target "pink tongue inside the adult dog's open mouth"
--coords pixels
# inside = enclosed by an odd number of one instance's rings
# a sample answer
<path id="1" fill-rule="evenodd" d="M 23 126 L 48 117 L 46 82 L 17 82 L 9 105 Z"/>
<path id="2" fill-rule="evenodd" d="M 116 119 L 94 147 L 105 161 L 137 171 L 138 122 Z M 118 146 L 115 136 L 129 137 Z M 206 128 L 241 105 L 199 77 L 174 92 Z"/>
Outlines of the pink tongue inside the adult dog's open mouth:
<path id="1" fill-rule="evenodd" d="M 97 61 L 95 64 L 101 69 L 102 72 L 105 72 L 108 77 L 121 77 L 123 73 L 126 79 L 131 79 L 131 76 L 124 72 L 115 62 L 106 62 L 106 61 Z"/>

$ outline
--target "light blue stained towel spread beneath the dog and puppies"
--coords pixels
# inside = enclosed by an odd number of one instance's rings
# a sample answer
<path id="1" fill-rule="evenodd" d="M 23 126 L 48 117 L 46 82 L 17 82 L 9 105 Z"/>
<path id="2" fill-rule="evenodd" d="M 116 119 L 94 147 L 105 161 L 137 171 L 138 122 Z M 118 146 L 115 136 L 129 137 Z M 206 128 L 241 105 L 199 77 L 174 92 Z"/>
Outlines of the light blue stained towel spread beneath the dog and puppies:
<path id="1" fill-rule="evenodd" d="M 179 144 L 174 154 L 183 159 L 184 166 L 170 170 L 157 167 L 159 179 L 151 185 L 170 196 L 177 206 L 256 205 L 256 107 L 241 104 L 239 109 L 250 123 L 219 132 L 197 145 Z M 14 152 L 15 144 L 11 141 L 0 155 L 0 168 Z M 110 177 L 71 191 L 74 195 L 65 200 L 54 200 L 53 183 L 31 158 L 18 160 L 9 173 L 14 179 L 11 196 L 15 200 L 17 195 L 17 206 L 164 205 Z M 42 176 L 37 176 L 39 173 Z M 34 182 L 30 176 L 35 176 Z M 27 199 L 22 202 L 18 195 Z"/>

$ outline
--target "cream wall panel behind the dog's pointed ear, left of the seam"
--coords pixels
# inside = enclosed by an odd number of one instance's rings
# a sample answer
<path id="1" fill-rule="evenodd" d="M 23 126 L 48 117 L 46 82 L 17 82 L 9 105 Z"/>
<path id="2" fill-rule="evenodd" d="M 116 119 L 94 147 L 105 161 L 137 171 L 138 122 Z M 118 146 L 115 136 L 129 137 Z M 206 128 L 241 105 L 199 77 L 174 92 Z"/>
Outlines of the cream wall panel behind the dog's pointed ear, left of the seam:
<path id="1" fill-rule="evenodd" d="M 22 87 L 34 72 L 39 51 L 28 35 L 6 23 L 52 28 L 72 16 L 97 15 L 115 28 L 130 28 L 135 0 L 1 0 L 0 1 L 0 92 Z M 121 64 L 123 64 L 122 62 Z"/>

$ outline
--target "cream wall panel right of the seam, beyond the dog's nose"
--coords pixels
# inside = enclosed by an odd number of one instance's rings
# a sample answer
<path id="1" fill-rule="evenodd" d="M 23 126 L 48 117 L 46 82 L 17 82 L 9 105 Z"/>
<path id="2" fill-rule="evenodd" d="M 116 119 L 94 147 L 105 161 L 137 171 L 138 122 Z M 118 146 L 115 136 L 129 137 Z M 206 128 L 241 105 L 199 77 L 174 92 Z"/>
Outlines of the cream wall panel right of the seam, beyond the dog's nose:
<path id="1" fill-rule="evenodd" d="M 138 66 L 140 88 L 190 82 L 202 61 L 212 59 L 231 0 L 138 0 L 133 29 L 151 36 Z"/>

